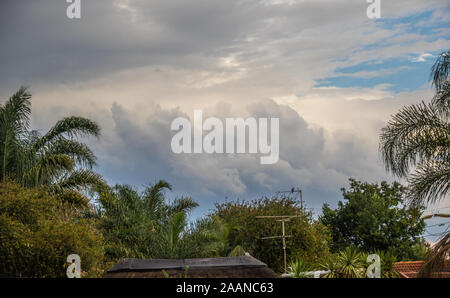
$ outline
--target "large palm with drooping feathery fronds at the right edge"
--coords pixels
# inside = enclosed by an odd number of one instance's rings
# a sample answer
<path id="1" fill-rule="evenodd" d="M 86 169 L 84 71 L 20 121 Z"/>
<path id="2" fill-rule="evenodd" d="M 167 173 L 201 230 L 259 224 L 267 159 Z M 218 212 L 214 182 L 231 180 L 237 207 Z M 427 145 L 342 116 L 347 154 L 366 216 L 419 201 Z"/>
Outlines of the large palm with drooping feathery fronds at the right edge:
<path id="1" fill-rule="evenodd" d="M 445 199 L 450 191 L 449 70 L 450 51 L 447 51 L 439 55 L 431 70 L 430 80 L 436 90 L 431 102 L 404 107 L 381 133 L 380 150 L 386 170 L 407 179 L 412 204 L 435 203 Z M 434 261 L 427 261 L 425 268 L 443 266 L 450 256 L 449 238 L 439 242 L 435 250 L 440 257 L 430 256 Z"/>

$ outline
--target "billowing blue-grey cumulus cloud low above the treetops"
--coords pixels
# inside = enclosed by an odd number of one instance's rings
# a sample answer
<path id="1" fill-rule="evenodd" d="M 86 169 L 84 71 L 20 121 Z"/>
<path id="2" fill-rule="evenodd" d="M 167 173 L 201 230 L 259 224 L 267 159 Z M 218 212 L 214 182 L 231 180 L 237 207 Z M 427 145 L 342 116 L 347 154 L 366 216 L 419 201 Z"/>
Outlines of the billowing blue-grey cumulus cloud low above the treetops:
<path id="1" fill-rule="evenodd" d="M 220 115 L 223 105 L 219 103 L 210 111 Z M 233 114 L 232 108 L 229 112 Z M 102 165 L 99 171 L 112 183 L 137 186 L 166 179 L 174 185 L 174 195 L 191 195 L 200 201 L 198 212 L 206 212 L 225 198 L 270 196 L 292 186 L 301 186 L 309 206 L 318 211 L 324 201 L 335 203 L 339 199 L 336 191 L 346 184 L 349 168 L 367 167 L 336 162 L 367 158 L 358 140 L 342 141 L 330 154 L 321 129 L 310 128 L 293 109 L 271 100 L 249 104 L 240 112 L 243 117 L 280 118 L 280 161 L 266 166 L 260 165 L 259 155 L 172 153 L 170 123 L 176 117 L 189 117 L 179 109 L 162 109 L 155 104 L 148 108 L 144 120 L 137 120 L 135 111 L 114 104 L 111 115 L 113 125 L 107 129 L 112 134 L 92 142 Z"/>

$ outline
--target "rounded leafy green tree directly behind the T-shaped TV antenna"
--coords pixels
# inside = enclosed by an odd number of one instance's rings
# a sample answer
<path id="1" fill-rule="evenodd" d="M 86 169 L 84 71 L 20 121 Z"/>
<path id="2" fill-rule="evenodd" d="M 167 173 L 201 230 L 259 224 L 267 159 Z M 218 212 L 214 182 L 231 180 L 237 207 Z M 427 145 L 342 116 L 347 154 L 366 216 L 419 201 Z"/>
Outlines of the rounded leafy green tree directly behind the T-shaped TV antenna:
<path id="1" fill-rule="evenodd" d="M 264 215 L 298 215 L 286 225 L 288 258 L 300 258 L 313 263 L 328 254 L 330 236 L 321 223 L 312 219 L 297 200 L 289 197 L 261 198 L 251 202 L 235 201 L 216 204 L 210 214 L 225 224 L 233 226 L 228 233 L 228 247 L 241 246 L 252 256 L 265 262 L 277 272 L 284 271 L 283 250 L 280 239 L 262 239 L 267 236 L 281 235 L 280 222 L 261 219 Z"/>

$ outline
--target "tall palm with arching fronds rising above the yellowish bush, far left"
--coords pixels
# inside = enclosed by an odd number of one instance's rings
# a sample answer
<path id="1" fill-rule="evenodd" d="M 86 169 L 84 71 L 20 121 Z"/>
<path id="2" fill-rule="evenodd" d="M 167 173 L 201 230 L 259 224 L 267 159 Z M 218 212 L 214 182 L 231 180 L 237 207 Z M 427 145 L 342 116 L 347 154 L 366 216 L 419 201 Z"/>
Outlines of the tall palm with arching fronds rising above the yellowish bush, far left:
<path id="1" fill-rule="evenodd" d="M 45 135 L 30 131 L 31 94 L 21 87 L 0 106 L 0 179 L 27 187 L 44 187 L 61 200 L 88 206 L 87 190 L 105 188 L 92 171 L 96 157 L 76 139 L 100 134 L 99 126 L 86 118 L 67 117 Z"/>

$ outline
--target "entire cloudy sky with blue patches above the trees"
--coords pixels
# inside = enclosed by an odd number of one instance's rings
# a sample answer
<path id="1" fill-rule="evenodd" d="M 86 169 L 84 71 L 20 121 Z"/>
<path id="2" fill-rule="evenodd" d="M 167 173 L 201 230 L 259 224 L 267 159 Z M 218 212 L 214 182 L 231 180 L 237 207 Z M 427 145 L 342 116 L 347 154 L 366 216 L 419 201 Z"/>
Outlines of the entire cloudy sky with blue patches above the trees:
<path id="1" fill-rule="evenodd" d="M 317 215 L 349 177 L 393 181 L 380 130 L 431 99 L 430 68 L 450 48 L 446 0 L 381 0 L 380 19 L 365 0 L 81 0 L 80 19 L 68 5 L 1 2 L 0 100 L 28 86 L 42 132 L 68 115 L 98 122 L 95 170 L 138 188 L 167 180 L 169 197 L 200 203 L 194 218 L 293 186 Z M 280 118 L 280 160 L 174 154 L 171 122 L 194 110 Z"/>

